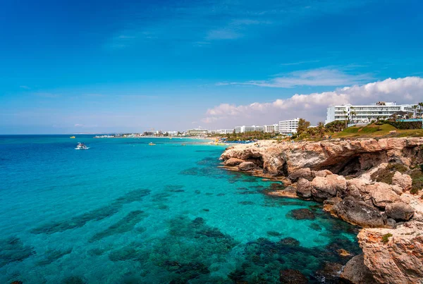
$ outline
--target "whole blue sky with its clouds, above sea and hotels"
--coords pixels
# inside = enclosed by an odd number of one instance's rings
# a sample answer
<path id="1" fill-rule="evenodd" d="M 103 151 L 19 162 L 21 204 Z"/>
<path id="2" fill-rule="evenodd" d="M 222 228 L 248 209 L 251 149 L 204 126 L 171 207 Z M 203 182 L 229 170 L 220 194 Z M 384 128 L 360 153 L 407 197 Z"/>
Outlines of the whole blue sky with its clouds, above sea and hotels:
<path id="1" fill-rule="evenodd" d="M 315 123 L 331 103 L 416 103 L 422 9 L 419 0 L 4 1 L 0 133 Z"/>

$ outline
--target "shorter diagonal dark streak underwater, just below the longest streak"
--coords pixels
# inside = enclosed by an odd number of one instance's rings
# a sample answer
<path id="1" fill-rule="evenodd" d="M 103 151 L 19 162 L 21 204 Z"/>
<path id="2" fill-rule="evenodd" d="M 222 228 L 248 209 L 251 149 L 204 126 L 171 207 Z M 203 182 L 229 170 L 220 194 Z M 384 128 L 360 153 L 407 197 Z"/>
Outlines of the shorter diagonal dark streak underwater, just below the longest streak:
<path id="1" fill-rule="evenodd" d="M 128 213 L 128 215 L 123 217 L 120 221 L 117 221 L 116 223 L 111 225 L 106 230 L 95 234 L 90 239 L 90 242 L 96 242 L 97 240 L 101 240 L 102 238 L 109 237 L 111 235 L 129 232 L 130 230 L 133 230 L 137 223 L 139 223 L 143 218 L 147 216 L 148 215 L 144 211 L 131 211 L 130 213 Z"/>

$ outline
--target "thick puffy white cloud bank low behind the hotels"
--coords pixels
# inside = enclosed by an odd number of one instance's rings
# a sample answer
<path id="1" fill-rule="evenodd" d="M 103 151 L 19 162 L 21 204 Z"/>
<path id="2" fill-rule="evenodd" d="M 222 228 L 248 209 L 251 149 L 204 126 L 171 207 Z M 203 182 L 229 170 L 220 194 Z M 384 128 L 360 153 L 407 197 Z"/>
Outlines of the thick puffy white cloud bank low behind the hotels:
<path id="1" fill-rule="evenodd" d="M 333 92 L 294 94 L 288 99 L 248 105 L 220 104 L 208 109 L 202 121 L 211 127 L 269 124 L 283 119 L 302 117 L 312 123 L 324 121 L 331 104 L 374 104 L 376 101 L 396 101 L 416 104 L 423 100 L 423 78 L 407 77 L 343 87 Z"/>

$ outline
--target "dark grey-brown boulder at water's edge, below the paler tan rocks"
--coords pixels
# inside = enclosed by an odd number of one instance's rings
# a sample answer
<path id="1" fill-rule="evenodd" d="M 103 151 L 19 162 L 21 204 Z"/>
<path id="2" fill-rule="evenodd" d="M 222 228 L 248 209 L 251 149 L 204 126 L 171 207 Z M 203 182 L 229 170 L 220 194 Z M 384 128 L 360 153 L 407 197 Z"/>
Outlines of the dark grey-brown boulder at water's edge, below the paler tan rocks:
<path id="1" fill-rule="evenodd" d="M 345 197 L 342 202 L 333 206 L 331 212 L 344 221 L 363 228 L 384 226 L 384 219 L 379 210 L 357 201 L 354 197 Z"/>

